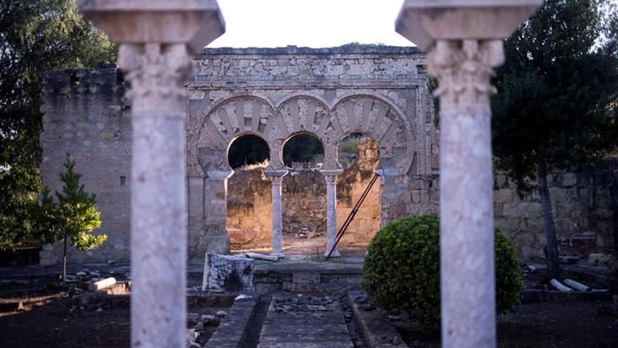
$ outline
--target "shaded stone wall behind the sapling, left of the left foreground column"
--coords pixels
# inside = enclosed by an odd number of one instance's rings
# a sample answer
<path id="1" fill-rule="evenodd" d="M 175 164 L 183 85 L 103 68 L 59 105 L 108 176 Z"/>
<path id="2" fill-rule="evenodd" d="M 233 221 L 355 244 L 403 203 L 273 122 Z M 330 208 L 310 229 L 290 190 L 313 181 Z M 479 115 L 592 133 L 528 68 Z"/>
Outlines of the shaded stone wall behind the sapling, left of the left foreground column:
<path id="1" fill-rule="evenodd" d="M 48 72 L 43 89 L 41 176 L 51 191 L 60 191 L 65 154 L 83 174 L 88 193 L 96 193 L 107 243 L 97 250 L 70 250 L 77 262 L 129 260 L 129 177 L 131 119 L 121 72 L 114 68 Z M 62 259 L 60 243 L 46 245 L 41 263 Z"/>

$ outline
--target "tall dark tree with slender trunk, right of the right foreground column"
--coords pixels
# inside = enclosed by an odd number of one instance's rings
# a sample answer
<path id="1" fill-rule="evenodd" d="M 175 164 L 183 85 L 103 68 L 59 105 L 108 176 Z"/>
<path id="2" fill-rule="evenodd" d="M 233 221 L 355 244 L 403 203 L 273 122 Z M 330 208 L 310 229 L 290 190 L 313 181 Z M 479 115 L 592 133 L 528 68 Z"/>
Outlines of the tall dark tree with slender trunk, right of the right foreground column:
<path id="1" fill-rule="evenodd" d="M 547 0 L 505 43 L 494 154 L 521 197 L 539 193 L 551 278 L 559 260 L 547 175 L 617 147 L 617 14 L 610 0 Z"/>

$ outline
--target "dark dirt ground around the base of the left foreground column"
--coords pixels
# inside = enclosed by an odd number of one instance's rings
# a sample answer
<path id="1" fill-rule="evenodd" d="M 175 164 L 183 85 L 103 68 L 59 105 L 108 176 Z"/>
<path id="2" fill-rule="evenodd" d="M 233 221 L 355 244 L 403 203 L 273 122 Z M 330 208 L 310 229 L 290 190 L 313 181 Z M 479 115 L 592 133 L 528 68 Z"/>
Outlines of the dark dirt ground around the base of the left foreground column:
<path id="1" fill-rule="evenodd" d="M 4 291 L 3 291 L 4 292 Z M 103 308 L 80 309 L 72 299 L 58 292 L 40 291 L 37 295 L 0 298 L 0 348 L 123 348 L 130 346 L 129 303 L 112 302 Z M 6 294 L 6 292 L 5 292 Z M 6 310 L 22 302 L 23 309 Z M 99 309 L 100 308 L 100 309 Z M 190 307 L 189 312 L 215 314 L 226 307 Z M 205 343 L 215 327 L 204 327 L 197 342 Z"/>

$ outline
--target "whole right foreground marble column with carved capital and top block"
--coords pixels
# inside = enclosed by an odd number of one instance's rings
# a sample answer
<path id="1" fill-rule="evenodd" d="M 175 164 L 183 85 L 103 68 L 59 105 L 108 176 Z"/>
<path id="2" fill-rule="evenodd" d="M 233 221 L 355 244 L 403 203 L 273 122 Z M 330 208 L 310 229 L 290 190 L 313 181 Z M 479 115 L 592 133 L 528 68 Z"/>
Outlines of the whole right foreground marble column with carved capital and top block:
<path id="1" fill-rule="evenodd" d="M 442 347 L 496 345 L 490 79 L 542 0 L 407 0 L 397 32 L 429 51 L 440 97 Z M 438 3 L 438 4 L 437 4 Z"/>

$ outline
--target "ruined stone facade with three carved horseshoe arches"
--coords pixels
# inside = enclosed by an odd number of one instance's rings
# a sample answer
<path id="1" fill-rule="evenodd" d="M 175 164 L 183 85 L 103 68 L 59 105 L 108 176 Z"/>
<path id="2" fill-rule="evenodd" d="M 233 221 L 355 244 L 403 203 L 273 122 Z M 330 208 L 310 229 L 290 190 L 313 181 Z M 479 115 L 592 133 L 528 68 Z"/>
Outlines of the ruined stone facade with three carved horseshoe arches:
<path id="1" fill-rule="evenodd" d="M 270 148 L 268 169 L 281 170 L 285 169 L 282 144 L 298 132 L 322 141 L 322 169 L 337 167 L 336 148 L 342 138 L 355 131 L 367 133 L 378 141 L 382 176 L 381 190 L 376 191 L 381 196 L 372 201 L 380 212 L 367 215 L 371 219 L 379 215 L 379 224 L 386 224 L 385 217 L 397 216 L 395 205 L 409 183 L 437 167 L 430 154 L 437 138 L 428 110 L 425 60 L 417 49 L 402 47 L 204 50 L 195 60 L 195 74 L 188 84 L 190 255 L 227 243 L 225 224 L 230 219 L 223 212 L 230 212 L 225 209 L 230 201 L 225 188 L 228 195 L 237 190 L 227 150 L 244 134 L 261 136 Z M 284 232 L 324 228 L 321 211 L 326 204 L 308 189 L 315 185 L 315 190 L 324 190 L 320 175 L 315 184 L 306 183 L 301 172 L 284 178 Z M 213 190 L 206 190 L 206 183 Z M 354 197 L 360 194 L 357 188 L 348 191 Z M 249 204 L 232 210 L 246 211 L 249 206 L 257 207 Z M 339 214 L 345 215 L 346 204 L 339 208 Z M 286 215 L 287 211 L 296 213 Z M 305 217 L 298 219 L 301 214 Z M 245 217 L 232 222 L 243 224 L 243 219 L 249 223 Z M 248 233 L 265 240 L 268 224 L 263 223 L 263 214 L 258 225 L 259 231 Z"/>

